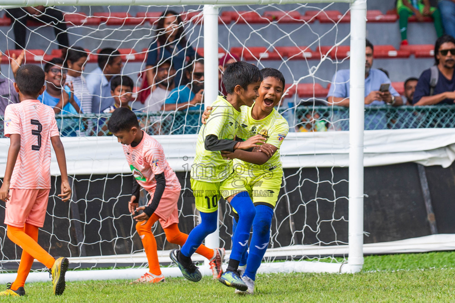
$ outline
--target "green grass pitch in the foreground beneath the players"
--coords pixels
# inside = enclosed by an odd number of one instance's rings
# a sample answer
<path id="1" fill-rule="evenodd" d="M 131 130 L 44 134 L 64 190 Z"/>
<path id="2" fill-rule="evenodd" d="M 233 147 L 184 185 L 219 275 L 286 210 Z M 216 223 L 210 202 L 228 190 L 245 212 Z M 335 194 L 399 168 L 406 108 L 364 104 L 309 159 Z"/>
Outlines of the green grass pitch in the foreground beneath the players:
<path id="1" fill-rule="evenodd" d="M 156 285 L 130 281 L 67 283 L 52 295 L 51 283 L 25 285 L 27 295 L 0 302 L 455 302 L 455 252 L 365 257 L 357 274 L 262 274 L 253 296 L 238 296 L 208 277 L 199 283 L 169 278 Z"/>

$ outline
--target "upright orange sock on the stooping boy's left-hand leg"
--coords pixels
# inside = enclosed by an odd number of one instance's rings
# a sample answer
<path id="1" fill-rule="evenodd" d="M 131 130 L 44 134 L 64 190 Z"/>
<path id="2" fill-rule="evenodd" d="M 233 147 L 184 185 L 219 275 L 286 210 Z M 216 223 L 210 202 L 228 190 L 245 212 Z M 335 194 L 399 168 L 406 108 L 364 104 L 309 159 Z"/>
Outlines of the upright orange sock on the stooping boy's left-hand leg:
<path id="1" fill-rule="evenodd" d="M 139 237 L 141 237 L 142 245 L 147 256 L 149 271 L 157 276 L 161 275 L 161 269 L 160 263 L 158 262 L 157 241 L 152 233 L 152 226 L 158 219 L 159 217 L 156 214 L 152 214 L 152 217 L 147 220 L 146 224 L 141 225 L 144 221 L 136 223 L 136 230 Z"/>

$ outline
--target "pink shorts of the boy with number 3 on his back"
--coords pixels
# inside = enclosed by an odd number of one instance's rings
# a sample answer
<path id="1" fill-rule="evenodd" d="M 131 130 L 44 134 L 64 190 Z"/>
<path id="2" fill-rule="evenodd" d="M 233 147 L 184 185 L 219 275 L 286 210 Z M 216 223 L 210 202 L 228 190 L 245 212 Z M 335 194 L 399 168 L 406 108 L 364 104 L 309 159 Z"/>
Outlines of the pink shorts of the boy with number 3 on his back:
<path id="1" fill-rule="evenodd" d="M 25 223 L 44 226 L 51 189 L 10 189 L 6 201 L 5 224 L 24 227 Z"/>

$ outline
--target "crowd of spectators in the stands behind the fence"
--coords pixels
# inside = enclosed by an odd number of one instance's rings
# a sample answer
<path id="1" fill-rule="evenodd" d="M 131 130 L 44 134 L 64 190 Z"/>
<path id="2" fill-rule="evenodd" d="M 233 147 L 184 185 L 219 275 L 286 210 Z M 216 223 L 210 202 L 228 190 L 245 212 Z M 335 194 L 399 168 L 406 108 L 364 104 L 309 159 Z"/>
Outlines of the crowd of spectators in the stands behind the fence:
<path id="1" fill-rule="evenodd" d="M 386 70 L 373 68 L 374 45 L 366 40 L 365 47 L 365 96 L 364 104 L 373 107 L 399 107 L 402 105 L 453 104 L 455 100 L 455 0 L 441 0 L 439 9 L 430 6 L 429 0 L 398 0 L 397 13 L 401 31 L 402 45 L 407 42 L 407 22 L 410 15 L 418 21 L 424 16 L 431 16 L 435 23 L 438 39 L 435 42 L 435 65 L 424 70 L 419 78 L 410 77 L 404 81 L 404 98 L 391 85 Z M 442 16 L 441 16 L 442 15 Z M 36 6 L 7 10 L 11 18 L 17 49 L 25 46 L 25 22 L 40 20 L 52 23 L 62 58 L 54 58 L 44 66 L 46 89 L 40 96 L 41 102 L 54 108 L 56 114 L 108 114 L 117 107 L 130 106 L 135 100 L 132 91 L 133 80 L 121 75 L 123 62 L 121 54 L 114 48 L 104 48 L 97 52 L 98 67 L 86 77 L 85 65 L 89 54 L 81 46 L 68 47 L 66 25 L 61 11 L 53 7 Z M 185 39 L 181 16 L 172 10 L 162 13 L 157 21 L 156 39 L 147 52 L 147 63 L 140 80 L 142 84 L 136 97 L 141 102 L 140 110 L 149 113 L 148 123 L 152 124 L 153 133 L 161 133 L 163 121 L 175 119 L 165 112 L 173 111 L 188 115 L 200 114 L 204 102 L 204 61 L 191 43 Z M 454 27 L 454 28 L 452 28 Z M 452 35 L 444 35 L 444 31 Z M 1 58 L 1 53 L 0 53 Z M 13 75 L 24 60 L 24 52 L 10 60 Z M 219 59 L 219 91 L 225 94 L 222 73 L 228 64 L 238 61 L 237 55 L 227 53 Z M 338 70 L 332 78 L 327 104 L 349 107 L 349 70 Z M 8 79 L 0 78 L 0 114 L 4 113 L 8 103 L 19 102 L 17 93 Z M 348 129 L 348 117 L 342 111 L 335 113 L 329 121 L 317 112 L 296 115 L 299 123 L 295 131 L 326 131 L 329 129 Z M 181 133 L 195 133 L 199 126 L 198 114 L 194 121 L 186 121 Z M 82 134 L 79 126 L 63 123 L 59 128 L 66 135 Z M 96 125 L 105 119 L 99 119 Z M 91 122 L 93 124 L 93 122 Z M 89 123 L 90 124 L 90 123 Z M 154 125 L 154 126 L 153 126 Z M 390 119 L 385 112 L 365 115 L 365 129 L 386 129 Z M 93 126 L 93 125 L 92 125 Z M 84 134 L 104 134 L 99 130 L 85 130 Z"/>

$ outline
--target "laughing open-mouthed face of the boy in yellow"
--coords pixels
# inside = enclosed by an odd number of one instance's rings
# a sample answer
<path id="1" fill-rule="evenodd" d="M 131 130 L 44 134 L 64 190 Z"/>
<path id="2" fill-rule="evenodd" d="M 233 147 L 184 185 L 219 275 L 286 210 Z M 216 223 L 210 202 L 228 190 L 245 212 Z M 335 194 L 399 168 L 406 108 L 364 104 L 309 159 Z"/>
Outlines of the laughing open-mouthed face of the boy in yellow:
<path id="1" fill-rule="evenodd" d="M 283 96 L 284 83 L 275 77 L 267 77 L 263 79 L 259 87 L 259 98 L 257 104 L 264 112 L 271 112 L 281 100 Z"/>

